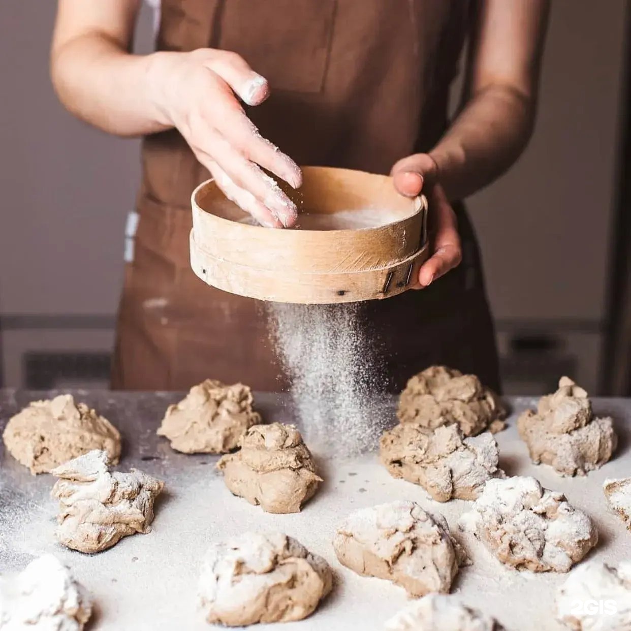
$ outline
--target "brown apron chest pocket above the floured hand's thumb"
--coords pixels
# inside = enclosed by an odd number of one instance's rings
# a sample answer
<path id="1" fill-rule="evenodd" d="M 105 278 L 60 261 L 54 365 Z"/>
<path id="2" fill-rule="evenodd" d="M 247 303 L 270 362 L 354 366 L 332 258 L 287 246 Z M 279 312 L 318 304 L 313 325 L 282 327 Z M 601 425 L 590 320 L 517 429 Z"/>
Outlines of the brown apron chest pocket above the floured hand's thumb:
<path id="1" fill-rule="evenodd" d="M 324 86 L 336 0 L 227 0 L 218 47 L 244 57 L 271 88 L 317 93 Z"/>

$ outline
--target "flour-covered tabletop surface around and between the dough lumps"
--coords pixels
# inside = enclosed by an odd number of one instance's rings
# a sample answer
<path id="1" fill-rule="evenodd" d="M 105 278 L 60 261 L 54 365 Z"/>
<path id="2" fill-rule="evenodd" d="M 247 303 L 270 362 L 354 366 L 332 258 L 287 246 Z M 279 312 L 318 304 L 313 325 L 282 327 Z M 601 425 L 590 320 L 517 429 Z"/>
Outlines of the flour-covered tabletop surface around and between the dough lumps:
<path id="1" fill-rule="evenodd" d="M 218 456 L 187 456 L 172 451 L 156 435 L 174 393 L 115 393 L 71 391 L 108 418 L 122 434 L 123 451 L 117 469 L 136 467 L 165 481 L 156 501 L 150 534 L 127 537 L 114 548 L 84 555 L 56 543 L 56 502 L 50 498 L 55 478 L 32 476 L 6 454 L 0 443 L 0 572 L 20 570 L 42 553 L 54 553 L 69 565 L 90 590 L 97 613 L 88 628 L 103 631 L 195 631 L 209 628 L 197 603 L 201 558 L 211 541 L 254 531 L 282 531 L 310 551 L 322 555 L 336 574 L 333 592 L 300 622 L 283 630 L 326 628 L 382 629 L 384 622 L 407 602 L 401 587 L 360 577 L 342 567 L 331 541 L 336 526 L 352 510 L 397 499 L 414 500 L 429 512 L 442 513 L 461 541 L 473 565 L 461 569 L 452 587 L 463 601 L 494 615 L 507 630 L 559 630 L 553 619 L 555 589 L 565 575 L 533 574 L 508 569 L 457 529 L 459 516 L 471 503 L 451 500 L 440 504 L 416 485 L 394 480 L 379 464 L 377 454 L 332 460 L 317 444 L 309 445 L 325 482 L 302 512 L 272 515 L 233 497 L 215 470 Z M 0 391 L 0 432 L 17 411 L 33 399 L 51 394 Z M 255 403 L 266 421 L 293 422 L 290 401 L 277 394 L 257 394 Z M 614 458 L 586 477 L 562 478 L 548 466 L 531 464 L 526 445 L 517 437 L 516 416 L 535 399 L 509 399 L 513 414 L 508 427 L 495 435 L 500 466 L 507 475 L 533 475 L 544 487 L 558 490 L 570 504 L 587 512 L 598 526 L 598 546 L 587 559 L 617 563 L 631 560 L 631 533 L 620 517 L 608 510 L 602 485 L 606 478 L 631 475 L 631 399 L 593 399 L 594 413 L 611 415 L 620 444 Z M 384 407 L 394 423 L 394 399 Z M 307 441 L 309 434 L 307 432 Z M 258 625 L 264 630 L 274 625 Z M 281 628 L 276 626 L 275 628 Z"/>

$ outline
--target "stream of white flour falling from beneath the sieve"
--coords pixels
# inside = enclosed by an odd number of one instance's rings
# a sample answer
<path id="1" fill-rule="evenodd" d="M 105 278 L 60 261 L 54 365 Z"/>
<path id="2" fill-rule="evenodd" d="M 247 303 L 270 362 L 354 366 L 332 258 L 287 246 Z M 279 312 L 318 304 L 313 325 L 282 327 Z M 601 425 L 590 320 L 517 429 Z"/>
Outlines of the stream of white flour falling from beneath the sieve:
<path id="1" fill-rule="evenodd" d="M 332 455 L 372 449 L 386 425 L 386 380 L 358 303 L 268 305 L 271 336 L 307 440 Z"/>

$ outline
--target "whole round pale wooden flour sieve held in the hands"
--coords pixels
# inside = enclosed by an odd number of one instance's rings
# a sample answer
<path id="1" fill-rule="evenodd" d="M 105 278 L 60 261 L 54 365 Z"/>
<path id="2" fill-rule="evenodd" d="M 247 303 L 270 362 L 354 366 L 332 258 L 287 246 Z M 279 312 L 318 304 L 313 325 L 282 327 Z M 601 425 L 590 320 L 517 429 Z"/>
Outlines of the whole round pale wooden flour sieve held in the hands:
<path id="1" fill-rule="evenodd" d="M 285 191 L 303 228 L 252 225 L 213 180 L 200 184 L 191 198 L 191 267 L 197 276 L 225 292 L 303 304 L 389 298 L 408 289 L 428 257 L 425 196 L 399 195 L 385 175 L 302 171 L 300 191 Z M 346 227 L 367 213 L 389 223 Z"/>

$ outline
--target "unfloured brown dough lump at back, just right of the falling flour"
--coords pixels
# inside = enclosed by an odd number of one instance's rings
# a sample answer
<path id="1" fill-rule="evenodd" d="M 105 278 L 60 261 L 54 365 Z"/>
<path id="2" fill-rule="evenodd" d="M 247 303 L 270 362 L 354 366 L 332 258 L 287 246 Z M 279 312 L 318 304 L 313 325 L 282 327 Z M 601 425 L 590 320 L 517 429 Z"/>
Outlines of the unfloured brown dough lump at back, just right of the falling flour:
<path id="1" fill-rule="evenodd" d="M 445 366 L 431 366 L 412 377 L 399 398 L 401 423 L 435 429 L 457 423 L 465 436 L 504 429 L 504 406 L 475 375 Z"/>

